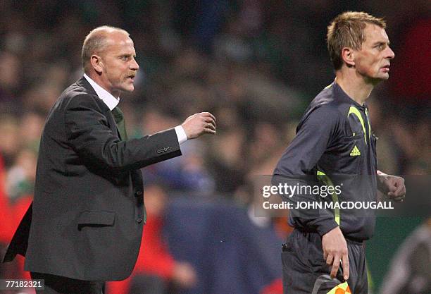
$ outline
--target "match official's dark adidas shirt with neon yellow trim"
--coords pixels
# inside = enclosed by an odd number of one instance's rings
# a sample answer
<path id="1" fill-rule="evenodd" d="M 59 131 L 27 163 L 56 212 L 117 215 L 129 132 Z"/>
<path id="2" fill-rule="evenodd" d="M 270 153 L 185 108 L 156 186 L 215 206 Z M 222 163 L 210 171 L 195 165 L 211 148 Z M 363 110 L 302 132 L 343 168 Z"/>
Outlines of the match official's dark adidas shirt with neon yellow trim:
<path id="1" fill-rule="evenodd" d="M 356 103 L 333 82 L 306 109 L 296 137 L 275 168 L 273 184 L 285 177 L 315 178 L 326 185 L 342 184 L 342 193 L 325 201 L 375 201 L 375 147 L 366 104 Z M 289 198 L 291 202 L 320 200 L 316 195 Z M 289 223 L 320 235 L 339 225 L 346 238 L 366 240 L 373 235 L 375 215 L 373 209 L 320 209 L 318 215 L 291 213 Z"/>

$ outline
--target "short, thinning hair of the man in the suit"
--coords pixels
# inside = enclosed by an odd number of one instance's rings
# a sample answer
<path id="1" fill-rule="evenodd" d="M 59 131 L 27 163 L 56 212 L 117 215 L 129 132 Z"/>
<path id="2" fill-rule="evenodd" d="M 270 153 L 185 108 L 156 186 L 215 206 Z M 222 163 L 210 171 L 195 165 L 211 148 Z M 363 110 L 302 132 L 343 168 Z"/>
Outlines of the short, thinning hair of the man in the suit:
<path id="1" fill-rule="evenodd" d="M 100 54 L 100 52 L 105 49 L 108 33 L 113 31 L 123 32 L 127 36 L 130 35 L 126 30 L 120 29 L 119 27 L 102 25 L 101 27 L 96 27 L 85 37 L 81 51 L 82 68 L 85 73 L 89 73 L 90 58 L 93 54 Z"/>

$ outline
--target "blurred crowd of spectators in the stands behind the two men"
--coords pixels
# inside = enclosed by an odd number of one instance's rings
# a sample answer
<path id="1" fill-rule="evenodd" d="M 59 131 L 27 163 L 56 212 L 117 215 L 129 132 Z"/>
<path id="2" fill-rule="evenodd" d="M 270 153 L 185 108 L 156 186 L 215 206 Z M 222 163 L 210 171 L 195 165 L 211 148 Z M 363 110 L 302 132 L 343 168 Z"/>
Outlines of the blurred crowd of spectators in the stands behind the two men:
<path id="1" fill-rule="evenodd" d="M 253 177 L 272 174 L 306 105 L 332 82 L 325 31 L 346 10 L 385 17 L 396 55 L 391 78 L 368 102 L 379 169 L 430 174 L 430 1 L 6 0 L 0 156 L 8 205 L 31 197 L 47 111 L 82 76 L 85 35 L 107 24 L 130 32 L 137 51 L 135 92 L 120 100 L 130 137 L 196 112 L 217 118 L 217 135 L 144 169 L 146 182 L 163 183 L 169 195 L 246 207 Z"/>

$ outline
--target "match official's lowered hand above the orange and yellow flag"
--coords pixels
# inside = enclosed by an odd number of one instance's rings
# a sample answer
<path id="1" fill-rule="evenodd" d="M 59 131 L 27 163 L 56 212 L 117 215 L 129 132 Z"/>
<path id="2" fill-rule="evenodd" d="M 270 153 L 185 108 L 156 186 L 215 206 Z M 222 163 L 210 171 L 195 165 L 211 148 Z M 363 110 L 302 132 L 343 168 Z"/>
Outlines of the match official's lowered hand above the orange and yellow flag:
<path id="1" fill-rule="evenodd" d="M 337 276 L 341 259 L 344 274 L 343 278 L 347 280 L 349 278 L 349 255 L 347 252 L 346 239 L 344 239 L 344 235 L 339 229 L 339 226 L 332 228 L 331 231 L 322 236 L 322 249 L 323 258 L 326 260 L 326 263 L 332 265 L 331 278 Z"/>

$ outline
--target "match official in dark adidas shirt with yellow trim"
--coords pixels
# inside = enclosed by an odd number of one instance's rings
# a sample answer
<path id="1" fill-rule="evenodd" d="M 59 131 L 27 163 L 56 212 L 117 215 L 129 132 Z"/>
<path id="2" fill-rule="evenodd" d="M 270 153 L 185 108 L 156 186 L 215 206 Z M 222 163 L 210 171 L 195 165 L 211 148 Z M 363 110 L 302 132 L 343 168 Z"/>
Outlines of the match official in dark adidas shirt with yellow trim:
<path id="1" fill-rule="evenodd" d="M 273 184 L 308 176 L 330 185 L 334 175 L 353 175 L 366 179 L 366 185 L 343 191 L 346 200 L 375 201 L 377 186 L 396 201 L 404 199 L 404 179 L 377 172 L 376 138 L 366 104 L 375 85 L 389 78 L 394 58 L 385 27 L 384 20 L 363 12 L 342 13 L 328 26 L 335 81 L 306 109 L 296 137 L 275 168 Z M 317 201 L 312 195 L 288 199 L 299 200 Z M 295 229 L 282 252 L 285 294 L 311 293 L 323 274 L 346 280 L 352 293 L 368 294 L 363 241 L 373 235 L 373 212 L 363 216 L 329 209 L 314 216 L 292 212 L 289 223 Z M 318 293 L 334 286 L 325 283 Z"/>

